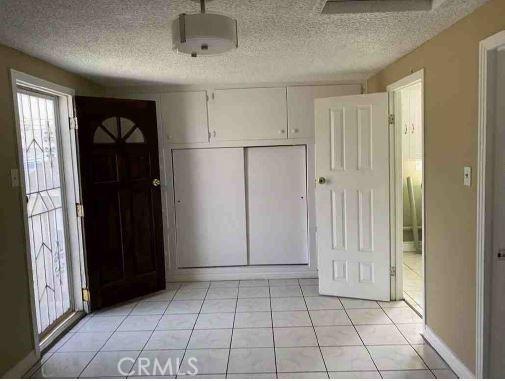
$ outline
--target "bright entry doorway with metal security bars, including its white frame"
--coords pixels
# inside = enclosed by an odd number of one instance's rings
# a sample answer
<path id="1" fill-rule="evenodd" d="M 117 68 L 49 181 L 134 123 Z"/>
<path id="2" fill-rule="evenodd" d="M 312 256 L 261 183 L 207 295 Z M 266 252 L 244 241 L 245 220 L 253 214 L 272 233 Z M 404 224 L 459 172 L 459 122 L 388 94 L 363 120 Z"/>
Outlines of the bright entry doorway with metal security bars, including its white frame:
<path id="1" fill-rule="evenodd" d="M 36 352 L 83 314 L 71 89 L 11 71 Z M 16 171 L 16 170 L 13 170 Z M 14 176 L 16 177 L 16 176 Z"/>

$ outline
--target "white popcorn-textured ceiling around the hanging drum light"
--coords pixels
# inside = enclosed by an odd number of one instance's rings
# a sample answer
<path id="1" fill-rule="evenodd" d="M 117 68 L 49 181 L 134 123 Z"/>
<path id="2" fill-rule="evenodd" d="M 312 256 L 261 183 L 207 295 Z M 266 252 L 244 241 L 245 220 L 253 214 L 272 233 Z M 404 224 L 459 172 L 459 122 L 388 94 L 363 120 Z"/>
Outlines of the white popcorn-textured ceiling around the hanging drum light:
<path id="1" fill-rule="evenodd" d="M 364 78 L 485 2 L 321 15 L 322 0 L 214 0 L 207 12 L 238 20 L 239 49 L 191 58 L 172 51 L 170 25 L 193 1 L 0 0 L 0 43 L 110 86 Z"/>

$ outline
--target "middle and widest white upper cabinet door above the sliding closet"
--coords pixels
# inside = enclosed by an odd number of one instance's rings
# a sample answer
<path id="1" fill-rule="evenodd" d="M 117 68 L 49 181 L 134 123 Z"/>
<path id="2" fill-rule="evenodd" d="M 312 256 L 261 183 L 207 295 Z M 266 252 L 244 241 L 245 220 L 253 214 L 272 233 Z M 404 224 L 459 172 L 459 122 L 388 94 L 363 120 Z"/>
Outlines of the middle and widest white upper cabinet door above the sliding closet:
<path id="1" fill-rule="evenodd" d="M 286 139 L 286 89 L 216 90 L 209 105 L 215 141 Z"/>

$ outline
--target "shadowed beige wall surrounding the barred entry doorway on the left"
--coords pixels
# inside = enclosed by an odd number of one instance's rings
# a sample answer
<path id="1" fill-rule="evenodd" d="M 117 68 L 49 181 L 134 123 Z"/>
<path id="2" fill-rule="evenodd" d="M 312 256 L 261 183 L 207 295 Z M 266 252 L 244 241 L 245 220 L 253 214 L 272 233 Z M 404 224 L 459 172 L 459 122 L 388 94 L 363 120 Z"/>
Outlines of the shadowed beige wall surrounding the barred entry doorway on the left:
<path id="1" fill-rule="evenodd" d="M 17 168 L 16 126 L 9 69 L 75 89 L 98 94 L 95 84 L 0 45 L 0 375 L 33 349 L 25 233 L 20 188 L 11 188 L 9 171 Z"/>

